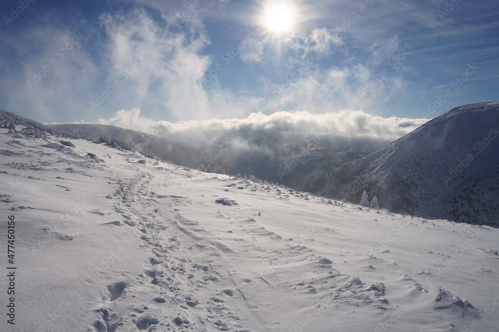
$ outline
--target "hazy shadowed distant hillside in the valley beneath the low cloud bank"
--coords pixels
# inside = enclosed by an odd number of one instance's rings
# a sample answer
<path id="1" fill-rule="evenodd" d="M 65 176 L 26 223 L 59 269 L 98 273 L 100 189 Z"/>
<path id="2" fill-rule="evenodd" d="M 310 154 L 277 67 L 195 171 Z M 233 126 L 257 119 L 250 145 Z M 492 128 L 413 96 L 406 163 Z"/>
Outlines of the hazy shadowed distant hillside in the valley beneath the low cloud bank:
<path id="1" fill-rule="evenodd" d="M 285 129 L 258 132 L 228 131 L 212 144 L 200 147 L 219 152 L 241 175 L 294 187 L 318 171 L 338 166 L 388 146 L 389 140 L 348 138 L 333 134 L 289 134 Z M 221 147 L 221 148 L 219 148 Z"/>

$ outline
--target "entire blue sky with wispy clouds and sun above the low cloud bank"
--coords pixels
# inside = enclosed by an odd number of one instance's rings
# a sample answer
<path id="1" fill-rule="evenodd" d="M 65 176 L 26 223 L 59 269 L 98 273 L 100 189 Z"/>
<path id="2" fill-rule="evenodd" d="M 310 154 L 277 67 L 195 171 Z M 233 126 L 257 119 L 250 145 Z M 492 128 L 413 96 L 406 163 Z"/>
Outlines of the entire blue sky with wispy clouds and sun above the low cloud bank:
<path id="1" fill-rule="evenodd" d="M 0 107 L 41 122 L 416 119 L 499 100 L 495 0 L 4 0 L 0 14 Z"/>

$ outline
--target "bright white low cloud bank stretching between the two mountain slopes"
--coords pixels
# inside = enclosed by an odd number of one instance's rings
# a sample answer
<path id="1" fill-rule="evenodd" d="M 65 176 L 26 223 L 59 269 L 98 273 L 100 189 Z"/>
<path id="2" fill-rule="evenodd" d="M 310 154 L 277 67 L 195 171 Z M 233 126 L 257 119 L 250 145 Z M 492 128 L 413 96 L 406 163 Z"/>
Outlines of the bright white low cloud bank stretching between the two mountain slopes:
<path id="1" fill-rule="evenodd" d="M 279 111 L 266 115 L 251 113 L 243 119 L 211 119 L 201 121 L 153 121 L 142 117 L 139 109 L 117 111 L 100 124 L 138 130 L 174 141 L 203 148 L 221 139 L 238 141 L 248 146 L 265 136 L 274 142 L 317 136 L 335 139 L 393 141 L 413 131 L 428 119 L 409 119 L 371 115 L 363 111 L 342 110 L 324 114 L 308 111 Z M 319 138 L 320 138 L 319 137 Z"/>

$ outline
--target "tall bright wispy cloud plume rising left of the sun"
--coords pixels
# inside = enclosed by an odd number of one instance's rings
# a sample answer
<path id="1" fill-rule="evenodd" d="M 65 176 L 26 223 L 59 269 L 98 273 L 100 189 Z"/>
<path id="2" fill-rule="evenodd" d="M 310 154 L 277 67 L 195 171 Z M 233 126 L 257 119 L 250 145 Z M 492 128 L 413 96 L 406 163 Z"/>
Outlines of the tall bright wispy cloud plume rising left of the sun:
<path id="1" fill-rule="evenodd" d="M 190 16 L 174 11 L 163 14 L 166 27 L 161 27 L 144 11 L 136 9 L 127 15 L 102 16 L 110 42 L 108 61 L 113 72 L 108 81 L 118 76 L 136 54 L 147 56 L 143 67 L 130 79 L 120 96 L 132 95 L 135 105 L 158 109 L 171 119 L 208 119 L 243 115 L 255 102 L 251 97 L 234 96 L 217 84 L 208 90 L 203 79 L 212 64 L 202 50 L 210 43 L 197 12 Z M 129 104 L 130 105 L 130 104 Z M 236 113 L 235 113 L 236 112 Z"/>

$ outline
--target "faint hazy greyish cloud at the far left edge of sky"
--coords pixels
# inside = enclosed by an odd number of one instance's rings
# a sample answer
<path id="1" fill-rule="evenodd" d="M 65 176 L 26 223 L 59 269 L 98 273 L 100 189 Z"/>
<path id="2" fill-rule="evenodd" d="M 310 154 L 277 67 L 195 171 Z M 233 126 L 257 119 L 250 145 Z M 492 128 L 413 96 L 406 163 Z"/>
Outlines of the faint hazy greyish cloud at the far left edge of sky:
<path id="1" fill-rule="evenodd" d="M 51 13 L 44 17 L 52 18 Z M 80 109 L 85 101 L 81 91 L 94 83 L 99 71 L 85 50 L 88 35 L 82 25 L 34 27 L 20 35 L 0 36 L 8 49 L 0 55 L 5 64 L 0 78 L 5 109 L 22 110 L 39 121 Z"/>

